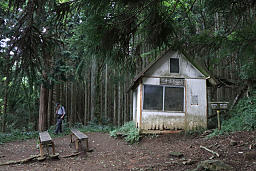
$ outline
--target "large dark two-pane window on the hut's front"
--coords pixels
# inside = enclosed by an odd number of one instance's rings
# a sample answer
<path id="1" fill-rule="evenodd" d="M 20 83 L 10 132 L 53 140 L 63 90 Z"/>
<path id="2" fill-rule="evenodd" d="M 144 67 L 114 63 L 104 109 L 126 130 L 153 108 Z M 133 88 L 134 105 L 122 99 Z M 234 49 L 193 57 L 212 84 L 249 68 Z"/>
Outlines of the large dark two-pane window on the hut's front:
<path id="1" fill-rule="evenodd" d="M 184 87 L 144 85 L 143 109 L 184 111 Z"/>

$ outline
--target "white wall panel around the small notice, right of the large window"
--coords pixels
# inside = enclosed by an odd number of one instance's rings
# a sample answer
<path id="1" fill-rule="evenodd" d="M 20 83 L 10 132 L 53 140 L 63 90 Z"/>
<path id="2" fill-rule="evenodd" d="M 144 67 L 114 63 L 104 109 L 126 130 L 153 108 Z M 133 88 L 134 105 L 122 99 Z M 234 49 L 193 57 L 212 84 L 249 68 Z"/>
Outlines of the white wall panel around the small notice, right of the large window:
<path id="1" fill-rule="evenodd" d="M 188 129 L 207 126 L 207 93 L 205 79 L 186 80 L 186 125 Z M 198 105 L 192 104 L 192 96 L 198 96 Z"/>

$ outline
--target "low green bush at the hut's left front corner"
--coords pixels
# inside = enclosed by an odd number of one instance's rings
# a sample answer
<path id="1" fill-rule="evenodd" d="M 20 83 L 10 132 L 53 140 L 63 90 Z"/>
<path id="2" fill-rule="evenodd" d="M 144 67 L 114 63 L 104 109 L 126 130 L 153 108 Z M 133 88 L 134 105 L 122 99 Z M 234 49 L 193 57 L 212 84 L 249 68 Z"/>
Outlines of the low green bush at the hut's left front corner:
<path id="1" fill-rule="evenodd" d="M 139 129 L 136 128 L 136 125 L 133 121 L 127 122 L 122 127 L 110 131 L 110 136 L 116 138 L 117 134 L 119 133 L 122 134 L 125 141 L 130 144 L 139 142 L 140 140 Z"/>

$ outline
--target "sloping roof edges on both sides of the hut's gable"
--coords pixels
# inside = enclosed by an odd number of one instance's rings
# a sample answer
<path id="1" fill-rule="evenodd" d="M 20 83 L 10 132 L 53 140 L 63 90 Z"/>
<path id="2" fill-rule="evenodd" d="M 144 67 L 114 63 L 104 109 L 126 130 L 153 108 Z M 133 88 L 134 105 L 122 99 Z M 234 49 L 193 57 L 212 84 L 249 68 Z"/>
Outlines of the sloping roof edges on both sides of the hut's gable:
<path id="1" fill-rule="evenodd" d="M 163 56 L 165 56 L 167 53 L 172 51 L 171 49 L 168 49 L 166 51 L 163 51 L 154 61 L 152 61 L 147 67 L 145 67 L 138 75 L 136 75 L 133 79 L 133 82 L 131 86 L 129 87 L 128 91 L 131 89 L 134 89 L 138 84 L 141 78 L 144 76 L 144 74 L 153 66 L 155 65 Z M 189 61 L 199 72 L 201 72 L 209 81 L 211 85 L 217 85 L 217 81 L 212 78 L 208 71 L 206 71 L 202 66 L 197 64 L 194 60 L 188 57 L 188 55 L 185 55 L 184 52 L 182 52 L 183 57 Z"/>

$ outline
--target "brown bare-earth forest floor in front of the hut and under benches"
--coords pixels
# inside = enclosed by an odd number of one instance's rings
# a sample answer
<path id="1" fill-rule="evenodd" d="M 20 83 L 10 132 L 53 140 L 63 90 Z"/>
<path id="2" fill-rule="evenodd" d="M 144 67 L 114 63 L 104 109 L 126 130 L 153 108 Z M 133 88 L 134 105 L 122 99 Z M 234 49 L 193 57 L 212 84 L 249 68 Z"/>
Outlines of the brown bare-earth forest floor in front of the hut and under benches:
<path id="1" fill-rule="evenodd" d="M 54 139 L 59 159 L 31 161 L 24 164 L 0 166 L 0 170 L 192 170 L 200 161 L 213 156 L 200 146 L 220 154 L 214 159 L 224 161 L 234 170 L 256 170 L 256 131 L 237 132 L 214 138 L 184 134 L 144 136 L 137 144 L 114 139 L 107 133 L 86 133 L 92 152 L 63 158 L 74 152 L 70 136 Z M 250 149 L 252 145 L 252 149 Z M 183 157 L 170 156 L 180 152 Z M 36 140 L 10 142 L 0 145 L 0 163 L 20 160 L 38 154 Z M 253 154 L 251 154 L 253 153 Z M 248 156 L 247 156 L 248 155 Z"/>

